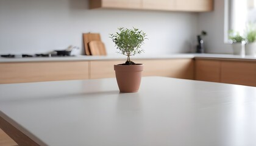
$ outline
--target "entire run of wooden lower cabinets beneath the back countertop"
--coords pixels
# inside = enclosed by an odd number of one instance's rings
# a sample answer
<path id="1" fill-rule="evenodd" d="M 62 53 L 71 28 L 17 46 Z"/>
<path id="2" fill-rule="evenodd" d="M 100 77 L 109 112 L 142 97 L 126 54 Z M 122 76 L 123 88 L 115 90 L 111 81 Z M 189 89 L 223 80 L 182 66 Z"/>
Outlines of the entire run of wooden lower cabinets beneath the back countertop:
<path id="1" fill-rule="evenodd" d="M 143 76 L 195 79 L 256 86 L 256 61 L 220 58 L 133 60 L 144 64 Z M 115 77 L 124 60 L 0 63 L 0 83 L 27 83 Z"/>

